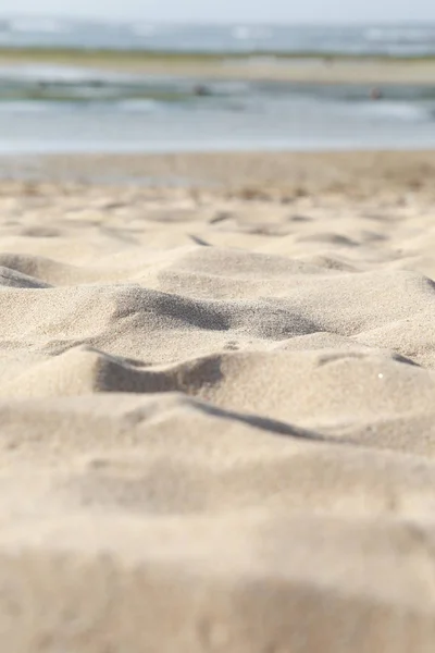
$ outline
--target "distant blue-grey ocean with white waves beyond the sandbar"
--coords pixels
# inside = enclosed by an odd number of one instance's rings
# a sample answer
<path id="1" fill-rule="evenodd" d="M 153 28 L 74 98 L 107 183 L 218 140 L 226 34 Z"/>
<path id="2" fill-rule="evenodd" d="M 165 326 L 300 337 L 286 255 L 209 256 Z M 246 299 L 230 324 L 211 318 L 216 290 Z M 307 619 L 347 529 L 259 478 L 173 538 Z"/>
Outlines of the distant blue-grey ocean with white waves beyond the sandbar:
<path id="1" fill-rule="evenodd" d="M 435 24 L 162 25 L 0 14 L 0 46 L 412 57 L 435 54 Z"/>

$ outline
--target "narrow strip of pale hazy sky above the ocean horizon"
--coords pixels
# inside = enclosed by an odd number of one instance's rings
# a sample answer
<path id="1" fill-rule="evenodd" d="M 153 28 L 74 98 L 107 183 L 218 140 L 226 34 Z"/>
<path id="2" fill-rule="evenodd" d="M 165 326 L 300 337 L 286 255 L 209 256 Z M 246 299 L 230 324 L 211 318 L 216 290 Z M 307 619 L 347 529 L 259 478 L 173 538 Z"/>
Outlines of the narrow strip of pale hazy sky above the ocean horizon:
<path id="1" fill-rule="evenodd" d="M 435 0 L 0 0 L 1 14 L 169 22 L 435 21 Z"/>

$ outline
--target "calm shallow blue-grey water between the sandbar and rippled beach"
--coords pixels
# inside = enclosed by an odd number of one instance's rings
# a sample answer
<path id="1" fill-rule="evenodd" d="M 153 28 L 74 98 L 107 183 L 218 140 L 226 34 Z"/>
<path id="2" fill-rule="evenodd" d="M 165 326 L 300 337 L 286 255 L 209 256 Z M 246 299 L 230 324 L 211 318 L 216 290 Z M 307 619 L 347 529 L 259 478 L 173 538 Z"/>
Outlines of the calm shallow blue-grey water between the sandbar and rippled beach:
<path id="1" fill-rule="evenodd" d="M 199 91 L 198 91 L 199 89 Z M 222 82 L 60 65 L 0 69 L 0 152 L 435 145 L 435 90 Z"/>

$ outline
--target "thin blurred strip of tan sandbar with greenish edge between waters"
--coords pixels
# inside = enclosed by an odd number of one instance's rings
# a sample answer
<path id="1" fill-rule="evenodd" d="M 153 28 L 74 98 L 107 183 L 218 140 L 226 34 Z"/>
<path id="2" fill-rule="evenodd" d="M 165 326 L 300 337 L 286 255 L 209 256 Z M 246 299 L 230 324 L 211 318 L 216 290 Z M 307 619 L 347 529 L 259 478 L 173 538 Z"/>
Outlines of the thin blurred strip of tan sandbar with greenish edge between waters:
<path id="1" fill-rule="evenodd" d="M 142 51 L 0 48 L 0 65 L 72 65 L 142 75 L 300 84 L 422 84 L 433 86 L 435 58 L 231 57 Z"/>

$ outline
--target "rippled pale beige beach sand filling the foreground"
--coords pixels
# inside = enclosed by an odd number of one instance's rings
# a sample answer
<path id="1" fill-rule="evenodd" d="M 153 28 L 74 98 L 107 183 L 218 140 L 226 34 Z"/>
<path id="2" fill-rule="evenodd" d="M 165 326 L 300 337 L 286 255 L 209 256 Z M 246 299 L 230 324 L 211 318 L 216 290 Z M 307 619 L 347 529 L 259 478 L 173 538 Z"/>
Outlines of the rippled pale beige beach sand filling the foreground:
<path id="1" fill-rule="evenodd" d="M 8 167 L 2 649 L 432 653 L 435 155 Z"/>

